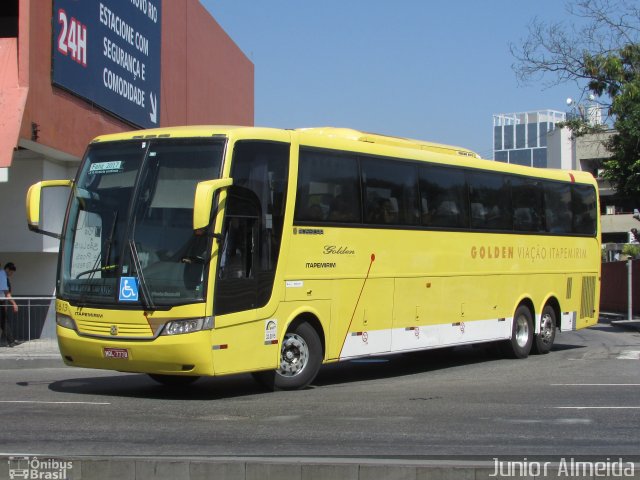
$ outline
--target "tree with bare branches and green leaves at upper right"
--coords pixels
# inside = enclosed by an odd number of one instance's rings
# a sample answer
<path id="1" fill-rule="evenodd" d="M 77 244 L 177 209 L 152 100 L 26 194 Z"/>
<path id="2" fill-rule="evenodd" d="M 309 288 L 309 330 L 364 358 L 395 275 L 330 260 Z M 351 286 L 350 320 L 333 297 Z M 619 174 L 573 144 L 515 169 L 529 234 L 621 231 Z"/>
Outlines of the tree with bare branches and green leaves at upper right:
<path id="1" fill-rule="evenodd" d="M 619 194 L 640 198 L 640 6 L 632 0 L 576 0 L 566 5 L 571 24 L 534 19 L 529 35 L 511 45 L 521 82 L 575 82 L 608 109 L 616 133 L 606 141 L 612 153 L 604 175 Z M 575 135 L 586 122 L 566 122 Z"/>

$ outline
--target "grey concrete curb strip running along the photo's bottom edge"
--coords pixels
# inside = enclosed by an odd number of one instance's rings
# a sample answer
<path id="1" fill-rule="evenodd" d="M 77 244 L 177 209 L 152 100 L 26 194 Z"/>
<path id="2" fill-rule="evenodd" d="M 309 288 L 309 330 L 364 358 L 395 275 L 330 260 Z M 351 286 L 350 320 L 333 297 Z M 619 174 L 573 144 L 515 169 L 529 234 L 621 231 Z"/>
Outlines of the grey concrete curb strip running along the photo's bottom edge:
<path id="1" fill-rule="evenodd" d="M 518 461 L 374 459 L 344 457 L 41 457 L 0 455 L 0 478 L 64 480 L 489 480 L 496 477 L 558 478 L 582 468 L 607 469 L 613 476 L 638 478 L 635 458 L 530 459 Z M 582 461 L 584 467 L 574 466 Z M 569 462 L 569 463 L 567 463 Z M 498 463 L 513 464 L 505 472 Z M 571 465 L 571 466 L 570 466 Z M 578 470 L 576 470 L 578 469 Z M 566 470 L 566 473 L 565 473 Z M 580 470 L 582 471 L 582 470 Z M 595 470 L 594 470 L 595 471 Z M 600 470 L 598 470 L 600 471 Z M 624 475 L 623 475 L 624 473 Z M 5 476 L 3 476 L 5 475 Z M 588 475 L 593 478 L 592 475 Z M 601 476 L 597 474 L 596 476 Z M 607 478 L 611 478 L 607 475 Z"/>

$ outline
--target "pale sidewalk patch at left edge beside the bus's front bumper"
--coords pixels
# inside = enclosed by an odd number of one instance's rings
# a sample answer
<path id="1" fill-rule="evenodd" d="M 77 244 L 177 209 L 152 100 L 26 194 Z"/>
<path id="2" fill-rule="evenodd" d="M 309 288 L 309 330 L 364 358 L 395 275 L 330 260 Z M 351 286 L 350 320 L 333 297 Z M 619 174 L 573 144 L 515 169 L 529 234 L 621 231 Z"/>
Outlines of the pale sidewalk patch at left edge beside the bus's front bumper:
<path id="1" fill-rule="evenodd" d="M 0 347 L 0 370 L 62 366 L 64 362 L 56 339 L 31 340 L 15 347 Z"/>

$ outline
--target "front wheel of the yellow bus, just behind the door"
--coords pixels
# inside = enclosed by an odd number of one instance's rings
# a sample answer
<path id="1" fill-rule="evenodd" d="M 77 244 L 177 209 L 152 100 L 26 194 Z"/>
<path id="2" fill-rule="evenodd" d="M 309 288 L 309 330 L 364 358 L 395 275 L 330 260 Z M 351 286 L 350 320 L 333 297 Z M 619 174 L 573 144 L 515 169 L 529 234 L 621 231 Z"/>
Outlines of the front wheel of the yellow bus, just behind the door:
<path id="1" fill-rule="evenodd" d="M 269 390 L 300 390 L 316 378 L 321 365 L 322 342 L 315 328 L 304 322 L 284 336 L 280 367 L 254 372 L 253 378 Z"/>

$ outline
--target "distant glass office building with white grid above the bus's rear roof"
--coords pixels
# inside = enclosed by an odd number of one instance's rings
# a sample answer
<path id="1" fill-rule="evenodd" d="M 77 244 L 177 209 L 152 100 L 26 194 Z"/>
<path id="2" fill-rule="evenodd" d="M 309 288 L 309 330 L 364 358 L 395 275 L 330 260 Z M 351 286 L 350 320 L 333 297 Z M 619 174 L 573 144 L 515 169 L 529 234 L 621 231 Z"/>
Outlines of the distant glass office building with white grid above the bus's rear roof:
<path id="1" fill-rule="evenodd" d="M 493 116 L 493 159 L 530 167 L 547 167 L 547 133 L 566 113 L 556 110 L 498 113 Z"/>

